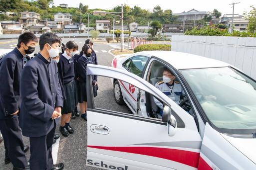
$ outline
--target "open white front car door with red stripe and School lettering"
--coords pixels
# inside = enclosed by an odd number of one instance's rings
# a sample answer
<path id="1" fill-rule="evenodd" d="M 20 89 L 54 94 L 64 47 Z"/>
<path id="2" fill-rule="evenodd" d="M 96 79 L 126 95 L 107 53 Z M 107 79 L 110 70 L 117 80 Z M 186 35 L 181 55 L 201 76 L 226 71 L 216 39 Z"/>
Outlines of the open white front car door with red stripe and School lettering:
<path id="1" fill-rule="evenodd" d="M 132 84 L 163 101 L 164 112 L 171 114 L 162 121 L 95 108 L 91 75 Z M 194 118 L 160 90 L 134 74 L 99 65 L 87 65 L 87 82 L 86 165 L 108 170 L 198 168 L 202 140 Z"/>

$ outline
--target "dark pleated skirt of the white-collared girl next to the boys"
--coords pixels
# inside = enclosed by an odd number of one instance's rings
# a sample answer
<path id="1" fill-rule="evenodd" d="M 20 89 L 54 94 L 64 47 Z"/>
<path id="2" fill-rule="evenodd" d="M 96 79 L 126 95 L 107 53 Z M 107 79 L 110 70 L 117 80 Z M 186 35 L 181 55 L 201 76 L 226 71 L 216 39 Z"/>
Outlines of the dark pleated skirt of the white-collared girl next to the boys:
<path id="1" fill-rule="evenodd" d="M 65 85 L 63 85 L 65 94 L 66 94 L 66 99 L 63 101 L 63 108 L 61 113 L 62 114 L 67 114 L 71 113 L 76 106 L 75 103 L 75 82 L 71 81 Z"/>

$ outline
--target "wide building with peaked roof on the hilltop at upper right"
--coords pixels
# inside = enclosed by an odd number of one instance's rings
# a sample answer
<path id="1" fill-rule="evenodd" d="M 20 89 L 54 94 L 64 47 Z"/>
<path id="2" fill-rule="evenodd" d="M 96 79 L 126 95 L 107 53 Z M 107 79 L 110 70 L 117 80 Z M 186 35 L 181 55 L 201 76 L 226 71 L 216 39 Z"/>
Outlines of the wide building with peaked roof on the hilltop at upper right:
<path id="1" fill-rule="evenodd" d="M 196 9 L 191 9 L 187 12 L 181 13 L 173 13 L 172 15 L 178 16 L 178 20 L 186 21 L 186 20 L 201 20 L 204 19 L 205 15 L 207 15 L 207 11 L 198 11 Z"/>

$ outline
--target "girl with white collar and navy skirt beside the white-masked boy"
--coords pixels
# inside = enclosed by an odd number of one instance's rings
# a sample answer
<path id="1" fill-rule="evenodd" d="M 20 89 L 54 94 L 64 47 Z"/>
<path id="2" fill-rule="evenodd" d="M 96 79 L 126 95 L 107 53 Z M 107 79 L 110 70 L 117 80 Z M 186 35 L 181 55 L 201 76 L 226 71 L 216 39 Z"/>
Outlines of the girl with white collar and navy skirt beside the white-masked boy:
<path id="1" fill-rule="evenodd" d="M 63 108 L 61 111 L 61 121 L 59 130 L 61 134 L 67 137 L 69 134 L 74 133 L 73 128 L 70 126 L 70 117 L 72 111 L 76 106 L 75 96 L 75 71 L 74 71 L 74 52 L 77 50 L 78 45 L 74 41 L 68 41 L 65 45 L 65 52 L 60 55 L 58 62 L 58 72 L 61 84 L 63 85 Z"/>

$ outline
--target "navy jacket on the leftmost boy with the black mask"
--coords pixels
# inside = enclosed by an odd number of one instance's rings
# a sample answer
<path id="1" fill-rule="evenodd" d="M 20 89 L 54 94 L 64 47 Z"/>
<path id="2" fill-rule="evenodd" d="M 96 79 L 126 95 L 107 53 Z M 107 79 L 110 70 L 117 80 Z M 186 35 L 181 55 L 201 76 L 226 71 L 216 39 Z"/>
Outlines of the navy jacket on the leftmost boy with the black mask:
<path id="1" fill-rule="evenodd" d="M 19 81 L 24 56 L 14 48 L 0 60 L 0 119 L 11 118 L 20 107 Z"/>

